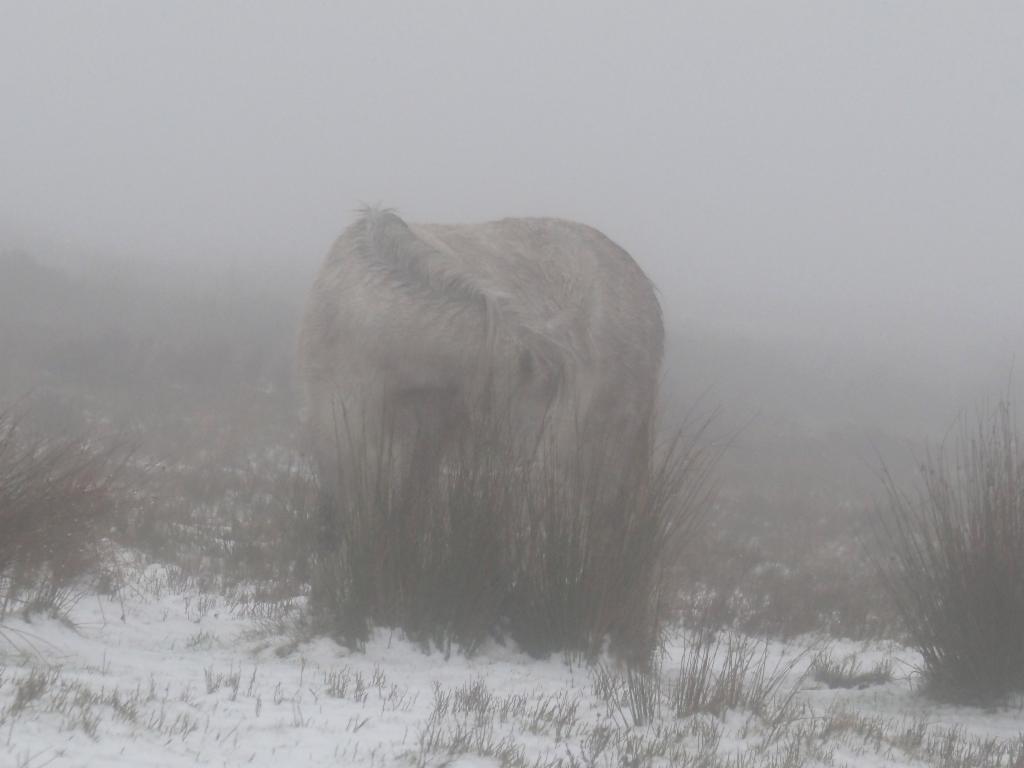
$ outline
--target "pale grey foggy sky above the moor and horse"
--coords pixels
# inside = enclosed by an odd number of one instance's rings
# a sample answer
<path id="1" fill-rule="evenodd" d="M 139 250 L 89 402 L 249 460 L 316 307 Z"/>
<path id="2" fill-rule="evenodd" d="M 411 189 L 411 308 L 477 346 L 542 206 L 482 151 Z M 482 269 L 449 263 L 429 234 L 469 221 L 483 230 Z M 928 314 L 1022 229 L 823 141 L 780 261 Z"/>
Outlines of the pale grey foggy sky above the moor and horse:
<path id="1" fill-rule="evenodd" d="M 0 248 L 272 267 L 591 223 L 670 325 L 1024 340 L 1024 5 L 3 2 Z"/>

